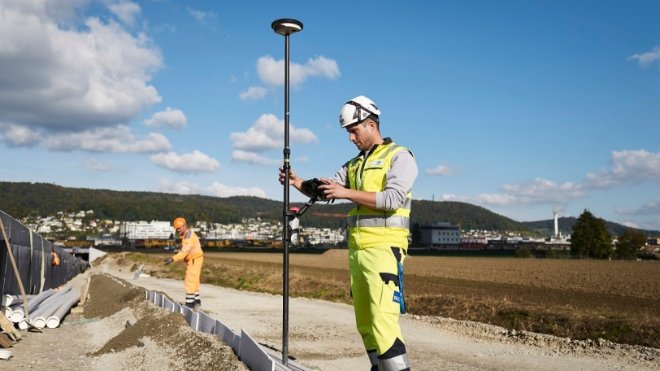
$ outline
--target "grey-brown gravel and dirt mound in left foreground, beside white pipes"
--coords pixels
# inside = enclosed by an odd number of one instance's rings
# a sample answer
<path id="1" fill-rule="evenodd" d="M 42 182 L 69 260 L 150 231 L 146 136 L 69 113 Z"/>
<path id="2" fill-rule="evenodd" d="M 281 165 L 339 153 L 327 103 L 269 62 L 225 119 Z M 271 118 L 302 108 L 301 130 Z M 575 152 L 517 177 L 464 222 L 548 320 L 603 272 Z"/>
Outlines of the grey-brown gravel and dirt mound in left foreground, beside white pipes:
<path id="1" fill-rule="evenodd" d="M 58 328 L 25 333 L 0 369 L 247 370 L 220 339 L 147 302 L 144 289 L 105 274 L 89 276 L 89 285 L 82 310 Z"/>

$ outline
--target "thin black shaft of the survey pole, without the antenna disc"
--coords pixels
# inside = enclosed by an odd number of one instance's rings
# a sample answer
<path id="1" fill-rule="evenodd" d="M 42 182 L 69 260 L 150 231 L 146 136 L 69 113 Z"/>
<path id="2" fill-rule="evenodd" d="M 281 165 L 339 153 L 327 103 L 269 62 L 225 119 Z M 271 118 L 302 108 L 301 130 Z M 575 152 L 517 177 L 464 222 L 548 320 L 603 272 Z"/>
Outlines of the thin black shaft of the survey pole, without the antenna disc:
<path id="1" fill-rule="evenodd" d="M 284 211 L 282 218 L 284 261 L 282 277 L 282 363 L 289 363 L 289 35 L 284 36 Z"/>

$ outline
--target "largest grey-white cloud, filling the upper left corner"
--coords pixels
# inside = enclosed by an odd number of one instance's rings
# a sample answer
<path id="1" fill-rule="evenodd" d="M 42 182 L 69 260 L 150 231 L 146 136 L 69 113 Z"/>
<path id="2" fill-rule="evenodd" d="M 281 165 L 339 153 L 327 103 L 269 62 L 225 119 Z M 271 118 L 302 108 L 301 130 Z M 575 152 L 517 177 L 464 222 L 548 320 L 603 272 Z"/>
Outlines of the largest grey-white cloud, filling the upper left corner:
<path id="1" fill-rule="evenodd" d="M 3 1 L 0 121 L 51 130 L 126 123 L 160 101 L 149 84 L 162 66 L 144 34 L 113 21 L 73 21 L 87 2 Z"/>

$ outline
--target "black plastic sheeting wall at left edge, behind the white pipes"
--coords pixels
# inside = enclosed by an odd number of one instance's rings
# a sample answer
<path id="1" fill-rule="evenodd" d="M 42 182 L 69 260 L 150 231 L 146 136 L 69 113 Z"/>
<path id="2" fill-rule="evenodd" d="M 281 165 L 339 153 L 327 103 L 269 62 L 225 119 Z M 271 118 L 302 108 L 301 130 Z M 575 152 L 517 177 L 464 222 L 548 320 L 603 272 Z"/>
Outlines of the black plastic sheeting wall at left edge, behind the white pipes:
<path id="1" fill-rule="evenodd" d="M 62 286 L 89 268 L 88 262 L 54 246 L 7 213 L 0 211 L 0 218 L 27 295 Z M 52 251 L 60 258 L 57 266 L 53 266 Z M 0 295 L 20 293 L 4 236 L 0 233 Z"/>

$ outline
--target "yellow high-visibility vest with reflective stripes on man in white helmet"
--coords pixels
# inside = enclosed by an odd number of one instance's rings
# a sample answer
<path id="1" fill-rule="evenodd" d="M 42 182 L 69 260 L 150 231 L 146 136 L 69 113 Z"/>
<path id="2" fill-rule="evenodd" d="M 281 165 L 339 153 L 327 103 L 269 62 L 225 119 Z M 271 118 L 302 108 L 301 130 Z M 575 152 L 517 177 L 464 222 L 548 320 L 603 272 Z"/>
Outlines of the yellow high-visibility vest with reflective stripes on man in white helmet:
<path id="1" fill-rule="evenodd" d="M 366 160 L 364 155 L 360 155 L 349 161 L 347 164 L 349 188 L 366 192 L 385 190 L 392 158 L 400 151 L 408 151 L 408 149 L 392 142 L 384 143 L 376 147 Z M 404 205 L 396 210 L 378 210 L 357 205 L 348 212 L 348 247 L 408 248 L 411 203 L 412 193 L 408 192 Z"/>

